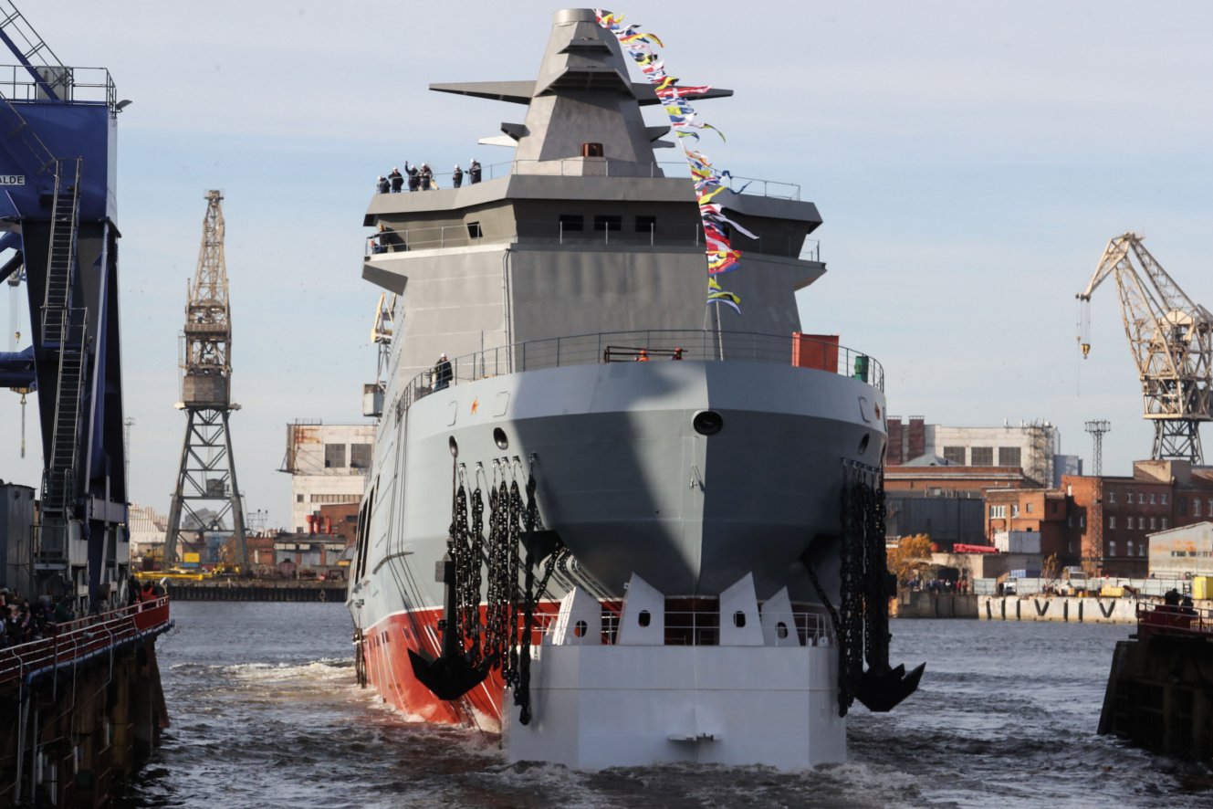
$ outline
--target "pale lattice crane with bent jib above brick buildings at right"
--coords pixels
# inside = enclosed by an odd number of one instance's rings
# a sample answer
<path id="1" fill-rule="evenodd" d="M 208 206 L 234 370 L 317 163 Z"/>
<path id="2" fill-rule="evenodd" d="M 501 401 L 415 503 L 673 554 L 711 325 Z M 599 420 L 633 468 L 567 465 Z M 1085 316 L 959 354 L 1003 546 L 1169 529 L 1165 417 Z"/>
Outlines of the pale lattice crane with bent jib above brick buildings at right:
<path id="1" fill-rule="evenodd" d="M 1140 270 L 1138 269 L 1140 267 Z M 1144 417 L 1154 422 L 1154 460 L 1203 463 L 1200 425 L 1209 421 L 1213 315 L 1195 303 L 1141 244 L 1124 233 L 1107 243 L 1087 289 L 1078 294 L 1078 342 L 1090 352 L 1090 295 L 1116 277 L 1124 334 L 1141 380 Z"/>

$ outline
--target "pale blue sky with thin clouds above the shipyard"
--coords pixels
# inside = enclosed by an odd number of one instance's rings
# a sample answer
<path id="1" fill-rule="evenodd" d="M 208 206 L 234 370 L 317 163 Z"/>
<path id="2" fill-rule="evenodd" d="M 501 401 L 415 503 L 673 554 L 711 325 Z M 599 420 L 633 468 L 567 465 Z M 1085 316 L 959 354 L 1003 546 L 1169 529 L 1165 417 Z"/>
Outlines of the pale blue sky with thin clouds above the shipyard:
<path id="1" fill-rule="evenodd" d="M 284 425 L 360 421 L 360 386 L 374 377 L 378 290 L 360 279 L 374 180 L 405 160 L 439 170 L 473 155 L 507 161 L 511 149 L 475 141 L 522 120 L 520 108 L 427 85 L 533 79 L 558 6 L 18 6 L 66 64 L 109 68 L 119 97 L 133 101 L 121 113 L 118 172 L 131 497 L 167 509 L 184 433 L 172 408 L 177 335 L 204 194 L 220 188 L 243 405 L 232 418 L 237 471 L 246 508 L 285 524 Z M 1149 456 L 1115 286 L 1095 295 L 1086 361 L 1075 294 L 1107 239 L 1134 229 L 1213 308 L 1213 5 L 611 10 L 661 36 L 667 69 L 685 84 L 735 91 L 697 106 L 728 136 L 705 138 L 714 163 L 797 183 L 818 204 L 828 272 L 801 294 L 804 329 L 838 332 L 879 359 L 892 414 L 964 426 L 1048 420 L 1063 451 L 1086 458 L 1083 422 L 1106 418 L 1105 473 Z M 17 397 L 0 393 L 0 478 L 38 485 L 36 429 L 21 461 Z"/>

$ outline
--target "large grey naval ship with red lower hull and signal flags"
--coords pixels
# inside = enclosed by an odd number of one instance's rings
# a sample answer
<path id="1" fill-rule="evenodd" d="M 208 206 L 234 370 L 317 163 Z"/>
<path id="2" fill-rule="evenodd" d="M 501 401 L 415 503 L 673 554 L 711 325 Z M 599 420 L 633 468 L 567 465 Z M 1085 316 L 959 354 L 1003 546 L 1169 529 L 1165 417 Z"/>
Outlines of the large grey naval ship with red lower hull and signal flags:
<path id="1" fill-rule="evenodd" d="M 514 159 L 366 210 L 393 329 L 359 678 L 511 760 L 841 762 L 853 699 L 888 710 L 921 674 L 888 665 L 883 370 L 801 330 L 825 264 L 795 186 L 716 199 L 742 309 L 705 308 L 687 163 L 657 160 L 659 97 L 599 22 L 557 12 L 533 81 L 431 85 L 522 106 L 495 138 Z"/>

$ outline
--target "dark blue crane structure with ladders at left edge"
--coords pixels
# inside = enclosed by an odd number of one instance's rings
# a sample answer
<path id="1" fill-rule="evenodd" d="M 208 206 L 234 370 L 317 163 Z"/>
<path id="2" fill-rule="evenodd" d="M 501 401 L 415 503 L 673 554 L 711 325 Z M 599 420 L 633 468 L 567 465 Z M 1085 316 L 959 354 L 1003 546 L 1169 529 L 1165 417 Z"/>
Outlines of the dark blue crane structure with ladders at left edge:
<path id="1" fill-rule="evenodd" d="M 109 72 L 63 65 L 8 0 L 0 41 L 0 281 L 24 274 L 32 344 L 0 384 L 38 391 L 42 480 L 32 586 L 97 608 L 130 546 L 118 306 L 116 125 Z"/>

